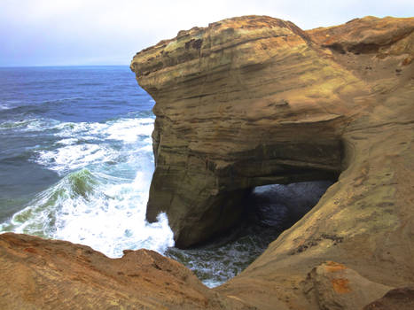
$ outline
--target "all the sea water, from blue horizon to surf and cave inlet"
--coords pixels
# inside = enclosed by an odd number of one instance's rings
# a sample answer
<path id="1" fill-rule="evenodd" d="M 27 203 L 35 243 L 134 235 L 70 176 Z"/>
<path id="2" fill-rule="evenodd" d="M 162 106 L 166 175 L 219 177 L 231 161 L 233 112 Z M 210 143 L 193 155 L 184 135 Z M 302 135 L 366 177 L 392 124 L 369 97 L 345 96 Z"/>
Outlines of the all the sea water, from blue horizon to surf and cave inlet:
<path id="1" fill-rule="evenodd" d="M 153 104 L 127 66 L 0 68 L 0 232 L 87 244 L 113 258 L 152 249 L 216 286 L 292 223 L 289 207 L 315 205 L 330 184 L 256 189 L 251 220 L 230 241 L 178 250 L 165 214 L 145 221 Z"/>

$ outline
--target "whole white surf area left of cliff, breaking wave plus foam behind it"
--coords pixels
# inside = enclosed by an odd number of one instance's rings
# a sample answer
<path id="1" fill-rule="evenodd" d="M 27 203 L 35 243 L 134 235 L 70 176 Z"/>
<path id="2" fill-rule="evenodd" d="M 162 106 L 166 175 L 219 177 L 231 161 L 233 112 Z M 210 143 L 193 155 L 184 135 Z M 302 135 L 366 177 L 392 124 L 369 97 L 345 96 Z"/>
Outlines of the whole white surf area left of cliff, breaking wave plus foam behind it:
<path id="1" fill-rule="evenodd" d="M 26 120 L 17 126 L 59 138 L 47 149 L 36 147 L 34 160 L 62 179 L 0 231 L 87 244 L 109 257 L 120 257 L 125 249 L 164 252 L 174 245 L 165 214 L 158 222 L 145 221 L 153 171 L 153 119 Z"/>

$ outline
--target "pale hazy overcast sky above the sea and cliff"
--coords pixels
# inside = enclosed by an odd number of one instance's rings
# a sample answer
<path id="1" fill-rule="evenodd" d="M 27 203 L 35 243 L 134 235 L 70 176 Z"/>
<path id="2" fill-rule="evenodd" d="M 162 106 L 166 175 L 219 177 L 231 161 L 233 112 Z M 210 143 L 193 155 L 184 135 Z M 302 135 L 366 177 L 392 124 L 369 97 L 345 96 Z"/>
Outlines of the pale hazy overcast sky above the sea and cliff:
<path id="1" fill-rule="evenodd" d="M 413 17 L 414 0 L 0 0 L 0 66 L 129 65 L 179 30 L 252 14 L 310 29 Z"/>

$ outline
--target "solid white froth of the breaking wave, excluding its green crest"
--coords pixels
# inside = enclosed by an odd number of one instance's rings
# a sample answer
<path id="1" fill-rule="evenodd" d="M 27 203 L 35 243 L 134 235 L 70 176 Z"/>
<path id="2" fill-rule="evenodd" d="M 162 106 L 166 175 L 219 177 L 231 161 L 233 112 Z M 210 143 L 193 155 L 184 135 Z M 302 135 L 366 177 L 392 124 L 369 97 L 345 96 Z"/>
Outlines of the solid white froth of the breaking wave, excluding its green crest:
<path id="1" fill-rule="evenodd" d="M 134 182 L 107 185 L 90 201 L 62 205 L 54 237 L 89 244 L 109 257 L 139 248 L 164 252 L 174 245 L 165 214 L 159 221 L 145 221 L 149 179 L 141 172 Z"/>

